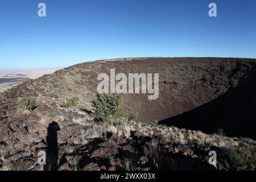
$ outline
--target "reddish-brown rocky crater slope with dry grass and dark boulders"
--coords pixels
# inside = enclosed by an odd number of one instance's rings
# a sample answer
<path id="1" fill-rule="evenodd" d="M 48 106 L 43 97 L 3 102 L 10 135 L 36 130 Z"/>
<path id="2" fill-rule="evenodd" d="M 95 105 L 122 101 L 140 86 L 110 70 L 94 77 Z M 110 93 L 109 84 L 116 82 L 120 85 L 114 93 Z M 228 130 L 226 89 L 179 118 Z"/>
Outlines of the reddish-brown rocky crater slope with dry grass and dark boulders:
<path id="1" fill-rule="evenodd" d="M 44 169 L 236 169 L 225 160 L 226 151 L 241 146 L 254 150 L 256 144 L 232 138 L 256 138 L 255 63 L 221 58 L 101 60 L 24 82 L 0 94 L 0 167 L 40 170 L 38 151 L 51 148 L 57 157 L 47 156 L 51 167 Z M 159 73 L 158 100 L 122 94 L 123 110 L 137 121 L 120 127 L 97 122 L 91 107 L 98 74 L 111 68 L 125 74 Z M 74 96 L 78 106 L 60 107 Z M 23 97 L 43 104 L 30 111 L 16 109 Z M 167 126 L 151 125 L 154 119 Z M 229 137 L 214 134 L 218 129 Z M 208 163 L 210 150 L 222 156 L 216 166 Z"/>

